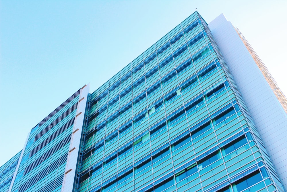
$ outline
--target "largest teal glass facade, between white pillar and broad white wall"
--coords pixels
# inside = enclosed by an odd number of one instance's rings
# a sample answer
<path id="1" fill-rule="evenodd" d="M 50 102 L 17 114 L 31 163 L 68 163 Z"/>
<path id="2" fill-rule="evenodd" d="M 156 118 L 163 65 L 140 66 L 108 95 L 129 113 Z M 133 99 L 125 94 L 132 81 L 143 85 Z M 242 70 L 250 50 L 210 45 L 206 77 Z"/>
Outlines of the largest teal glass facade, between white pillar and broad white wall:
<path id="1" fill-rule="evenodd" d="M 75 190 L 282 191 L 248 115 L 195 12 L 90 94 Z"/>

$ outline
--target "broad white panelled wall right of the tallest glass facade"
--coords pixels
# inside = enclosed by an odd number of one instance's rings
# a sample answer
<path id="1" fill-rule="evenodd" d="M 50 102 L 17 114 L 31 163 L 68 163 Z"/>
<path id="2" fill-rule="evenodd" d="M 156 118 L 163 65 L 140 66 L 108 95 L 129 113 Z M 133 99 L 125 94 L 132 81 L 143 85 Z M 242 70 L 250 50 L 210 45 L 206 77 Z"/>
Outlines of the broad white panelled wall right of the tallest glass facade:
<path id="1" fill-rule="evenodd" d="M 234 27 L 223 14 L 209 24 L 214 39 L 287 191 L 287 115 Z M 231 40 L 232 39 L 232 40 Z M 279 130 L 279 131 L 278 131 Z M 285 165 L 279 165 L 284 162 Z"/>

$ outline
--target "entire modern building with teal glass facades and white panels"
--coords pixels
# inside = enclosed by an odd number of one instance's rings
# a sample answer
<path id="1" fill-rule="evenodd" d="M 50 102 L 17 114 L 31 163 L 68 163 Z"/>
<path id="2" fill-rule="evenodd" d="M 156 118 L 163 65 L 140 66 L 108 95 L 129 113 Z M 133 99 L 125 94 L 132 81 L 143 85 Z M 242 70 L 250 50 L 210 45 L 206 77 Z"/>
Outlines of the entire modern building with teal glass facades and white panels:
<path id="1" fill-rule="evenodd" d="M 286 191 L 286 106 L 240 31 L 195 12 L 32 128 L 0 191 Z"/>

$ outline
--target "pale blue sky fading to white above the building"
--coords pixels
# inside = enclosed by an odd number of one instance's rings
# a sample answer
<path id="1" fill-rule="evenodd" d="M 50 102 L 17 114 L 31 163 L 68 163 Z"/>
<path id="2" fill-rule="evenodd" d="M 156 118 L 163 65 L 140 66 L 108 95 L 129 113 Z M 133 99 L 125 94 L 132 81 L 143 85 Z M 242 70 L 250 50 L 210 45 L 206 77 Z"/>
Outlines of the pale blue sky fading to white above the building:
<path id="1" fill-rule="evenodd" d="M 195 12 L 223 13 L 287 95 L 287 1 L 0 0 L 0 166 L 83 85 L 94 92 Z"/>

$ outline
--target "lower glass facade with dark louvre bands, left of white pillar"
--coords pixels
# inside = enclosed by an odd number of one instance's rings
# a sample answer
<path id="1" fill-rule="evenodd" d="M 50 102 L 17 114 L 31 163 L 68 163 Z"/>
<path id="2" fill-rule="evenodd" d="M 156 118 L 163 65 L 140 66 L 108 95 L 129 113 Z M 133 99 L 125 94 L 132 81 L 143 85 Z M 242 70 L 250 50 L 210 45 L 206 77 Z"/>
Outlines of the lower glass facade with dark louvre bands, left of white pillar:
<path id="1" fill-rule="evenodd" d="M 11 191 L 61 191 L 79 93 L 31 130 Z"/>

